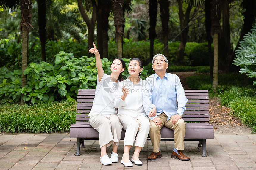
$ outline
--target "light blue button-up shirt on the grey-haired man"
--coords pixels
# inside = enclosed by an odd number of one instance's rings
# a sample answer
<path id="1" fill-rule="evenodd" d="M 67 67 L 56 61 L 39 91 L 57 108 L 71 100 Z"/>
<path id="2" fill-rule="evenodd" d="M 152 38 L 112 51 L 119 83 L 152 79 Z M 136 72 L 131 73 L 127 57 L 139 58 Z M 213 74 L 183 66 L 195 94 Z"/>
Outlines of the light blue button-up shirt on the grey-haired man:
<path id="1" fill-rule="evenodd" d="M 168 116 L 168 121 L 172 115 L 183 114 L 186 110 L 188 99 L 177 75 L 165 73 L 161 79 L 157 74 L 152 74 L 146 78 L 144 85 L 143 108 L 145 112 L 149 115 L 153 107 L 157 109 L 156 116 L 149 117 L 150 120 L 164 112 Z"/>

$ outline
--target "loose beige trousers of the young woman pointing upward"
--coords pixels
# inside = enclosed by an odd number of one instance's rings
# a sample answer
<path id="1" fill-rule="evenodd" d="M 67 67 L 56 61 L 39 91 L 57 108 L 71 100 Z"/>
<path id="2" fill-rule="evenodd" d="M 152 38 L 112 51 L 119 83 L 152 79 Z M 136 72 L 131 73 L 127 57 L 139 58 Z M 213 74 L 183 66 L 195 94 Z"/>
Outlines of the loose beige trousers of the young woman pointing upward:
<path id="1" fill-rule="evenodd" d="M 99 146 L 119 145 L 123 126 L 119 122 L 117 114 L 107 117 L 102 115 L 92 115 L 89 118 L 90 125 L 99 132 Z"/>

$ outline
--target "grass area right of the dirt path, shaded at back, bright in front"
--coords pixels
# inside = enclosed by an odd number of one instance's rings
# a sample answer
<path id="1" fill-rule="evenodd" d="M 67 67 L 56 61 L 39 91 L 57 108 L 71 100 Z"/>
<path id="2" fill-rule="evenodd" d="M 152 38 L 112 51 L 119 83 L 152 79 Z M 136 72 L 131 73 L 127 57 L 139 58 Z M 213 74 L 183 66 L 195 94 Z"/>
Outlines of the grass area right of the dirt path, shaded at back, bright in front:
<path id="1" fill-rule="evenodd" d="M 256 86 L 244 86 L 244 75 L 239 73 L 219 75 L 219 86 L 216 93 L 213 91 L 213 80 L 209 74 L 194 75 L 187 78 L 192 89 L 209 90 L 210 98 L 218 97 L 221 104 L 229 107 L 231 114 L 238 117 L 241 122 L 252 128 L 256 133 Z"/>

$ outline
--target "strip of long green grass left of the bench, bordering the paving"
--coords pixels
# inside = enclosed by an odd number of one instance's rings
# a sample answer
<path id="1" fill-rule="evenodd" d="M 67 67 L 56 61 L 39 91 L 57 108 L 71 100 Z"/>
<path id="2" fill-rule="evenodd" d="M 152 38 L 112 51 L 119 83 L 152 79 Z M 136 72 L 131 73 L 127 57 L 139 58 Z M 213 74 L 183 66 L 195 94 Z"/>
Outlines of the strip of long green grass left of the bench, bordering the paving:
<path id="1" fill-rule="evenodd" d="M 0 105 L 0 132 L 52 133 L 69 131 L 75 123 L 76 102 Z"/>

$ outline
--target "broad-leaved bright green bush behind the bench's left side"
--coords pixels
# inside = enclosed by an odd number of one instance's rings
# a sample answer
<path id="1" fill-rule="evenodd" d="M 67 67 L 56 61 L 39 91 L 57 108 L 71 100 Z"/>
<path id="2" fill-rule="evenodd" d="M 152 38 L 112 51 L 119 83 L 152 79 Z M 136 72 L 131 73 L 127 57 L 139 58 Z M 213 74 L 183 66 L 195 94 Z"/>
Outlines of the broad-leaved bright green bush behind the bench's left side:
<path id="1" fill-rule="evenodd" d="M 21 88 L 21 70 L 11 72 L 6 67 L 0 71 L 0 102 L 12 103 L 22 99 L 27 103 L 41 103 L 53 101 L 74 101 L 78 89 L 95 89 L 97 69 L 94 57 L 74 58 L 73 53 L 55 55 L 54 65 L 41 61 L 39 64 L 30 63 L 24 74 L 27 75 L 27 85 Z M 129 59 L 124 59 L 128 67 Z M 102 59 L 102 67 L 106 74 L 111 74 L 111 62 Z M 143 69 L 141 78 L 147 77 L 147 70 Z M 123 72 L 126 79 L 128 69 Z"/>

